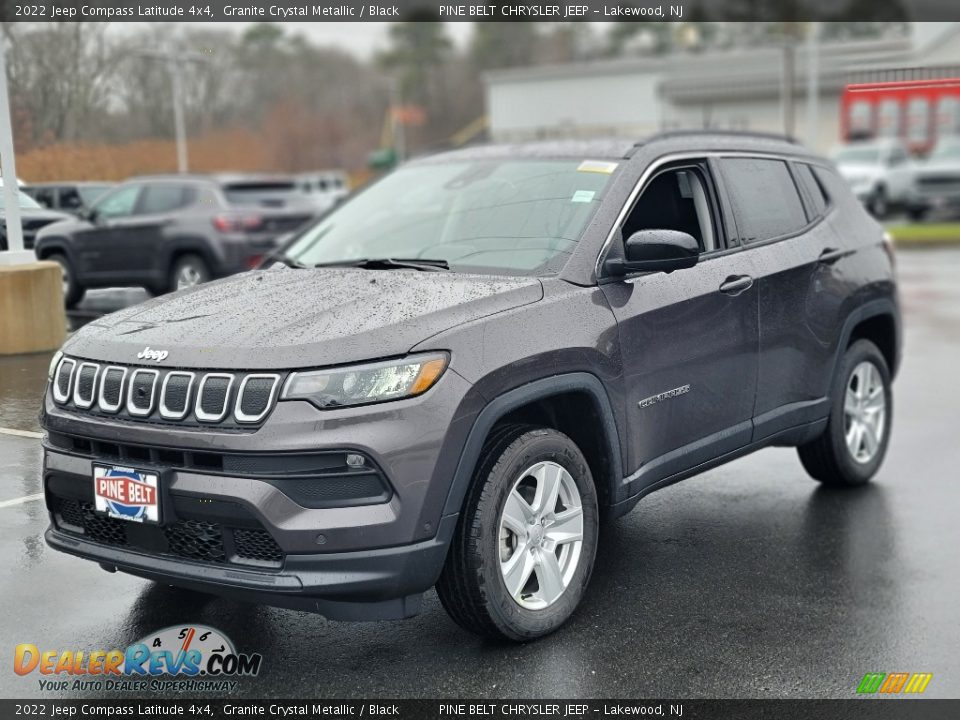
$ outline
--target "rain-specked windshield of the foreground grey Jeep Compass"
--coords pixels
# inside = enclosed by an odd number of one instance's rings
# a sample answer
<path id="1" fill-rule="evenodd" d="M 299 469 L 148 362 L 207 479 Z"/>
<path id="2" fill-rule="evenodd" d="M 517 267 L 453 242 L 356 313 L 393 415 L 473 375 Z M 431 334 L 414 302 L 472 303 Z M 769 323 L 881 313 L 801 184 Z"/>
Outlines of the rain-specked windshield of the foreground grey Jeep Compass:
<path id="1" fill-rule="evenodd" d="M 327 215 L 286 254 L 303 265 L 422 258 L 445 260 L 452 270 L 556 272 L 613 167 L 482 160 L 401 168 Z"/>

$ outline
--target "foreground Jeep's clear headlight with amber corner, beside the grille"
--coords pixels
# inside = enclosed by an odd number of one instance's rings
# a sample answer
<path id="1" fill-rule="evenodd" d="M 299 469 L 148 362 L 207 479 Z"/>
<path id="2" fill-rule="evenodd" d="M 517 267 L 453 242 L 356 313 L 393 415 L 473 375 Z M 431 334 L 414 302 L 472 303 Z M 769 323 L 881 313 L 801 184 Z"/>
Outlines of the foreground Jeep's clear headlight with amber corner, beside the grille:
<path id="1" fill-rule="evenodd" d="M 445 354 L 298 372 L 290 376 L 280 398 L 309 400 L 318 408 L 348 407 L 399 400 L 425 393 L 447 367 Z"/>

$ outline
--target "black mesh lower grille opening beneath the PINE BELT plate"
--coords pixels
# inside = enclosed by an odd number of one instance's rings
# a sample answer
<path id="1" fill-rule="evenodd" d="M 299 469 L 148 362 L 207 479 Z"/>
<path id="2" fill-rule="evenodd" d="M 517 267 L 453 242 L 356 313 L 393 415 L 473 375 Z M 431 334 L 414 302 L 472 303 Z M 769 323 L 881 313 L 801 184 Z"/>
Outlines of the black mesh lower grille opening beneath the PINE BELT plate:
<path id="1" fill-rule="evenodd" d="M 102 545 L 221 565 L 280 568 L 284 561 L 283 550 L 256 521 L 246 523 L 257 527 L 243 528 L 199 519 L 131 523 L 95 512 L 93 503 L 63 497 L 53 498 L 53 508 L 59 530 Z"/>

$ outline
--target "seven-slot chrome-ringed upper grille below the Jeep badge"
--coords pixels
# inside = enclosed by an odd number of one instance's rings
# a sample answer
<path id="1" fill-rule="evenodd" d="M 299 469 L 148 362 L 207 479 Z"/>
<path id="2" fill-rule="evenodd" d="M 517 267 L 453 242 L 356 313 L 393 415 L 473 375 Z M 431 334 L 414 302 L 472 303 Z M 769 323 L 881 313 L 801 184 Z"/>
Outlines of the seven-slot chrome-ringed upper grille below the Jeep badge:
<path id="1" fill-rule="evenodd" d="M 54 402 L 92 414 L 148 422 L 249 427 L 277 401 L 282 375 L 166 370 L 63 358 Z"/>

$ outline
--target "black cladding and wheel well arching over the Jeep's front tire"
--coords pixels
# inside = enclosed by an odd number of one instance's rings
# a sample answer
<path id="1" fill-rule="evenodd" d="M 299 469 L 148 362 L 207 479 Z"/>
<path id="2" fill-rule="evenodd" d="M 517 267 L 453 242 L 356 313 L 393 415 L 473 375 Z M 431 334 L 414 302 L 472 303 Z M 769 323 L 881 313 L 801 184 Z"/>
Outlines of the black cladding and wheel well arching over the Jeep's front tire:
<path id="1" fill-rule="evenodd" d="M 586 417 L 579 415 L 581 412 L 586 412 Z M 578 372 L 522 385 L 494 398 L 480 411 L 460 454 L 444 515 L 463 509 L 483 445 L 502 422 L 546 425 L 568 435 L 590 466 L 600 504 L 623 499 L 619 497 L 623 480 L 620 435 L 610 399 L 599 378 Z"/>

